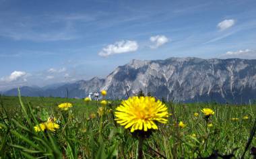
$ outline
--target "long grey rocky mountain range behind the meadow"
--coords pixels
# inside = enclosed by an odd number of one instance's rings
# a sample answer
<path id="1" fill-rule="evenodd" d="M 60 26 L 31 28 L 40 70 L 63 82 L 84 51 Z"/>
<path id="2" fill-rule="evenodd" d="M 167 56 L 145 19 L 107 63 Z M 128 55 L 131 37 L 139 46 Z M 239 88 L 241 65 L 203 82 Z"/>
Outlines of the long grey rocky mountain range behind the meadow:
<path id="1" fill-rule="evenodd" d="M 256 99 L 256 60 L 168 58 L 131 60 L 117 67 L 105 79 L 62 85 L 54 89 L 28 89 L 22 95 L 86 97 L 88 93 L 108 91 L 112 99 L 126 98 L 140 89 L 158 98 L 176 102 L 218 101 L 248 103 Z M 17 89 L 5 95 L 17 95 Z"/>

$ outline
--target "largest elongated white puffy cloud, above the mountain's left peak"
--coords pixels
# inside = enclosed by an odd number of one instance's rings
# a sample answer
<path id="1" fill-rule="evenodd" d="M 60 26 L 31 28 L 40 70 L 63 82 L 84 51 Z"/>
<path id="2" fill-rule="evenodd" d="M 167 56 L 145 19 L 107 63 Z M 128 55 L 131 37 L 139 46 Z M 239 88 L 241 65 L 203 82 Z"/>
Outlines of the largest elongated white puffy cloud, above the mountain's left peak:
<path id="1" fill-rule="evenodd" d="M 109 44 L 98 53 L 100 56 L 109 56 L 112 54 L 123 54 L 125 52 L 135 52 L 139 48 L 136 41 L 121 40 L 115 44 Z"/>

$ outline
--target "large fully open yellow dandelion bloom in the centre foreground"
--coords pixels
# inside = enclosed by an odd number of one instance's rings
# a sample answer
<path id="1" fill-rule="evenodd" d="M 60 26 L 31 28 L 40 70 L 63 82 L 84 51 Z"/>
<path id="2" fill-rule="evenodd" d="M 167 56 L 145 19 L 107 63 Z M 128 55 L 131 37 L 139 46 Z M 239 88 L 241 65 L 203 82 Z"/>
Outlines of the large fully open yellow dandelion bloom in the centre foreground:
<path id="1" fill-rule="evenodd" d="M 158 129 L 155 121 L 167 123 L 168 117 L 166 105 L 154 97 L 130 97 L 122 101 L 117 107 L 115 117 L 117 123 L 124 125 L 125 129 L 131 127 L 131 132 L 135 130 L 148 131 L 148 129 Z"/>

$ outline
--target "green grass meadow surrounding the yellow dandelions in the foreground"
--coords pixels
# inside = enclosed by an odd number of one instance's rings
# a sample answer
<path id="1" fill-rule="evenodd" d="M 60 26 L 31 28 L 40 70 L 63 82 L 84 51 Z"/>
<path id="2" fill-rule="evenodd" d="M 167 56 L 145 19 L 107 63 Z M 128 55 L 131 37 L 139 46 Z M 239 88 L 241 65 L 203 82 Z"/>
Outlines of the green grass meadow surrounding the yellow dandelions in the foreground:
<path id="1" fill-rule="evenodd" d="M 0 154 L 1 158 L 136 158 L 137 138 L 115 123 L 114 115 L 90 118 L 100 103 L 85 103 L 82 99 L 46 97 L 1 97 Z M 69 111 L 57 108 L 69 102 Z M 120 101 L 112 101 L 113 109 Z M 159 124 L 143 144 L 144 158 L 203 158 L 216 150 L 218 154 L 234 154 L 241 158 L 253 128 L 256 105 L 220 105 L 217 103 L 166 103 L 168 124 Z M 202 108 L 215 111 L 207 127 Z M 199 113 L 199 117 L 194 117 Z M 247 115 L 249 119 L 243 117 Z M 60 128 L 55 132 L 35 132 L 34 126 L 48 117 L 56 117 Z M 232 121 L 238 117 L 238 121 Z M 181 128 L 179 121 L 187 126 Z M 196 137 L 192 137 L 196 134 Z M 253 138 L 249 149 L 256 146 Z M 249 150 L 245 158 L 251 158 Z"/>

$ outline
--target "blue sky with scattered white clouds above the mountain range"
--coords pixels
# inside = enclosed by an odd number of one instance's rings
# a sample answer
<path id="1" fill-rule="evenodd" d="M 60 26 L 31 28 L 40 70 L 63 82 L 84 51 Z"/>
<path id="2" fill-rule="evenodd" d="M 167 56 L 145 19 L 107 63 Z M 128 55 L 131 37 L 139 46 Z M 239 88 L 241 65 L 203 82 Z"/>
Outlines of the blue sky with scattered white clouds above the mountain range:
<path id="1" fill-rule="evenodd" d="M 256 1 L 0 0 L 0 91 L 131 59 L 256 58 Z"/>

